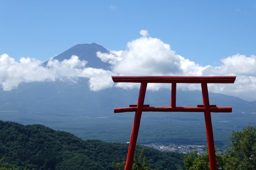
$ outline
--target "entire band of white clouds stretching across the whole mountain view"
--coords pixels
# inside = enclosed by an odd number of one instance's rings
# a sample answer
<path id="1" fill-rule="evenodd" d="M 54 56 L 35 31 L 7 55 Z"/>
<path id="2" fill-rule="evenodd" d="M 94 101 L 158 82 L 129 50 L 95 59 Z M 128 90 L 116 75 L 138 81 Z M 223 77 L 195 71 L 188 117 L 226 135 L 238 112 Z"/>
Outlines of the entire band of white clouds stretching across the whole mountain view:
<path id="1" fill-rule="evenodd" d="M 128 42 L 125 50 L 97 52 L 101 61 L 112 64 L 111 71 L 86 67 L 87 61 L 78 56 L 58 61 L 50 59 L 47 67 L 33 58 L 21 58 L 16 62 L 10 56 L 0 56 L 0 84 L 3 90 L 16 88 L 22 82 L 42 82 L 69 80 L 79 77 L 89 79 L 91 90 L 97 91 L 114 85 L 120 88 L 137 88 L 138 83 L 113 83 L 111 75 L 180 75 L 180 76 L 217 76 L 236 75 L 234 84 L 209 84 L 209 91 L 256 100 L 256 56 L 236 54 L 221 59 L 221 65 L 201 66 L 176 54 L 169 44 L 159 38 L 149 37 L 147 30 L 141 30 L 139 37 Z M 88 61 L 90 62 L 90 61 Z M 201 90 L 200 85 L 179 84 L 183 90 Z M 168 84 L 149 84 L 149 90 L 170 88 Z"/>

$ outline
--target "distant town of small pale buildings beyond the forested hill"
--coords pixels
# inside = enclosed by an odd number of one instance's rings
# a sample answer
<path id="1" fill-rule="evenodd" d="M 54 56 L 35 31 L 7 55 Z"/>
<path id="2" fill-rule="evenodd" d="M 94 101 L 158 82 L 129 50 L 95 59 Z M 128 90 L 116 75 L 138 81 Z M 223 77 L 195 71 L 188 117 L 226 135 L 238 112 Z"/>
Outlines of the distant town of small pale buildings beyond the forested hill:
<path id="1" fill-rule="evenodd" d="M 204 145 L 179 145 L 179 144 L 172 144 L 170 143 L 169 145 L 162 145 L 162 144 L 156 144 L 156 143 L 152 143 L 152 144 L 141 144 L 143 146 L 149 146 L 151 148 L 157 149 L 159 151 L 163 151 L 163 152 L 178 152 L 178 153 L 182 153 L 182 154 L 189 154 L 191 152 L 197 151 L 199 155 L 205 154 L 206 153 L 206 148 Z M 219 153 L 220 155 L 224 154 L 225 152 L 227 152 L 226 149 L 224 150 L 220 150 L 217 149 L 216 153 Z"/>

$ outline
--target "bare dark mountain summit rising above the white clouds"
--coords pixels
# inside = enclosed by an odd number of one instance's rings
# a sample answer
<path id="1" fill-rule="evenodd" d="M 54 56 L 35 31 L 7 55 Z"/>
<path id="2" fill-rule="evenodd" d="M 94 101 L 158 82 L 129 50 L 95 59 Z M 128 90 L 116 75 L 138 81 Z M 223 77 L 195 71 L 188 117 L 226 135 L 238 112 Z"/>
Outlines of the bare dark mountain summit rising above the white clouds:
<path id="1" fill-rule="evenodd" d="M 70 49 L 64 51 L 63 53 L 54 57 L 54 59 L 58 59 L 58 61 L 62 61 L 64 59 L 70 59 L 72 55 L 76 55 L 80 60 L 89 61 L 86 66 L 93 67 L 98 69 L 109 70 L 109 64 L 102 62 L 97 56 L 97 51 L 102 53 L 107 53 L 107 49 L 98 45 L 96 43 L 91 44 L 77 44 Z M 45 61 L 44 65 L 47 64 L 48 61 Z"/>

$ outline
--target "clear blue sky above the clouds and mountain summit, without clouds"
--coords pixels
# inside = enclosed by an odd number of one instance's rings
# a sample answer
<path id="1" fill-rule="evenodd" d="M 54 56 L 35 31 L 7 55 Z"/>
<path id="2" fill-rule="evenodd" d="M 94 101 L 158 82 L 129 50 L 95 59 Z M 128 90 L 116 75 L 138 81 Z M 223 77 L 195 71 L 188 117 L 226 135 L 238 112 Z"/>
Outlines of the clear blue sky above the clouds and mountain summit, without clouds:
<path id="1" fill-rule="evenodd" d="M 0 55 L 42 61 L 78 43 L 125 50 L 148 30 L 178 55 L 218 66 L 256 55 L 256 1 L 0 1 Z"/>

